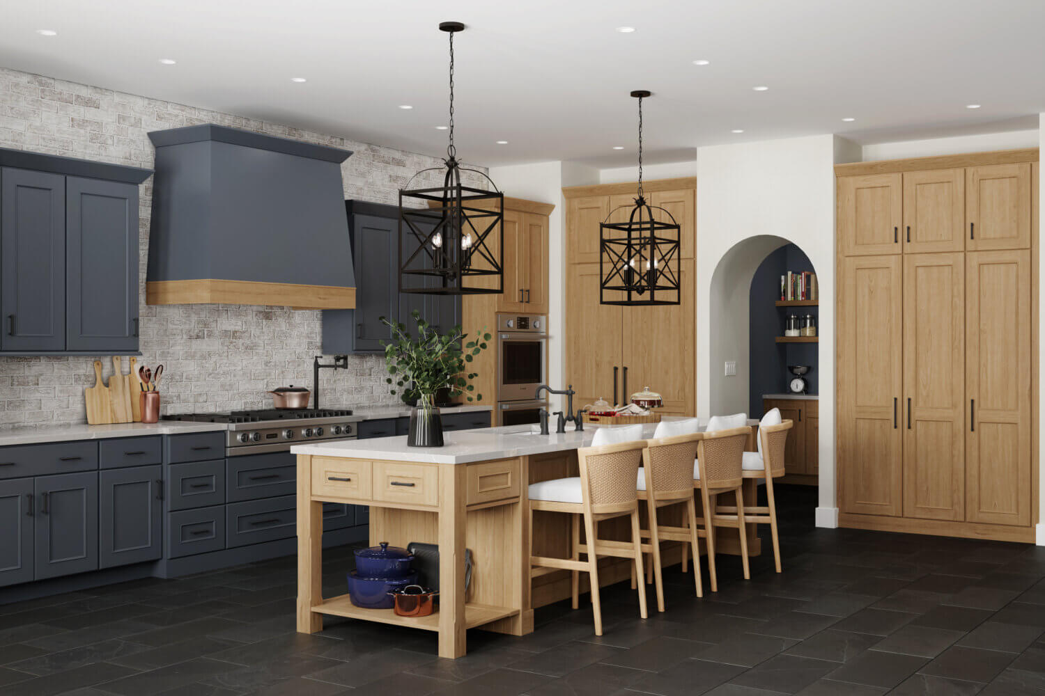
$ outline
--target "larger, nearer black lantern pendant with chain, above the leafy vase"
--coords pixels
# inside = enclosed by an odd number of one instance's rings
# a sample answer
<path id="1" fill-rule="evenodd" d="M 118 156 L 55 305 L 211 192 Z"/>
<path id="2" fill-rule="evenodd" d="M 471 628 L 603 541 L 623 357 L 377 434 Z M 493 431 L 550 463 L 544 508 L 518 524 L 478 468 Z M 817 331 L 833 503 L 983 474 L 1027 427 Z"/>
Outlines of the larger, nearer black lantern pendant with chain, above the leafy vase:
<path id="1" fill-rule="evenodd" d="M 399 191 L 399 292 L 440 295 L 504 291 L 505 196 L 478 169 L 461 167 L 454 147 L 454 34 L 461 22 L 443 22 L 450 34 L 449 145 L 443 167 L 423 169 Z M 443 185 L 411 189 L 421 174 L 443 171 Z M 461 172 L 484 176 L 491 190 L 461 183 Z M 414 203 L 414 206 L 411 206 Z"/>

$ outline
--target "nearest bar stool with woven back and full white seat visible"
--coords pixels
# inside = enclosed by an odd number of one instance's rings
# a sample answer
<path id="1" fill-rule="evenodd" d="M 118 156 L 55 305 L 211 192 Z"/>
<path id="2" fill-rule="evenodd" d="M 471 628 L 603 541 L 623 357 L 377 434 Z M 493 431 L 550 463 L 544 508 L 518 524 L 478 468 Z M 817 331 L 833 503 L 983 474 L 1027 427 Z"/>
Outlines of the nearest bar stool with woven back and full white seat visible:
<path id="1" fill-rule="evenodd" d="M 579 477 L 553 479 L 532 483 L 530 495 L 530 576 L 541 575 L 540 569 L 573 571 L 573 606 L 578 606 L 579 572 L 586 571 L 591 585 L 591 608 L 595 634 L 602 635 L 602 605 L 599 601 L 599 556 L 631 558 L 635 572 L 643 576 L 643 548 L 638 525 L 638 498 L 635 481 L 643 459 L 645 440 L 602 445 L 577 450 Z M 535 510 L 566 512 L 573 515 L 573 549 L 571 558 L 533 555 L 533 513 Z M 628 515 L 631 518 L 631 542 L 599 539 L 596 526 L 603 520 Z M 580 544 L 579 523 L 584 521 L 585 544 Z M 649 550 L 649 548 L 647 548 Z M 580 560 L 580 554 L 587 560 Z M 647 618 L 646 585 L 638 584 L 638 616 Z"/>

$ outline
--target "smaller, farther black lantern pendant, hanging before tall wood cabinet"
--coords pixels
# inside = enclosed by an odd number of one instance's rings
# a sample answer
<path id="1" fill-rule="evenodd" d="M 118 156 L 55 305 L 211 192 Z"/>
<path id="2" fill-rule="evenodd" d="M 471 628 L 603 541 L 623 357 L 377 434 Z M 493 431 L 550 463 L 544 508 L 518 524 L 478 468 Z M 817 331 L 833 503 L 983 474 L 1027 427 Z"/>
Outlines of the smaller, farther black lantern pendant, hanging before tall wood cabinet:
<path id="1" fill-rule="evenodd" d="M 678 305 L 681 291 L 679 273 L 679 225 L 664 208 L 650 206 L 643 195 L 643 99 L 646 90 L 635 90 L 638 98 L 638 195 L 634 206 L 622 206 L 599 225 L 600 277 L 599 302 L 603 305 Z M 620 211 L 630 208 L 627 220 Z M 656 216 L 654 217 L 654 211 Z"/>

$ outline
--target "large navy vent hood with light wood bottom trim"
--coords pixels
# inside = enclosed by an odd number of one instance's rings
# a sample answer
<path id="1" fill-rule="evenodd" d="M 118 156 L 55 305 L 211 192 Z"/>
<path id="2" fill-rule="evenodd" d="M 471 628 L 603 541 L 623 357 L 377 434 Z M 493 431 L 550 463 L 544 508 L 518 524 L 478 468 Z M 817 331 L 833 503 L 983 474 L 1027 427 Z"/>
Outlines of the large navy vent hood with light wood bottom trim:
<path id="1" fill-rule="evenodd" d="M 148 137 L 147 304 L 355 307 L 349 150 L 212 123 Z"/>

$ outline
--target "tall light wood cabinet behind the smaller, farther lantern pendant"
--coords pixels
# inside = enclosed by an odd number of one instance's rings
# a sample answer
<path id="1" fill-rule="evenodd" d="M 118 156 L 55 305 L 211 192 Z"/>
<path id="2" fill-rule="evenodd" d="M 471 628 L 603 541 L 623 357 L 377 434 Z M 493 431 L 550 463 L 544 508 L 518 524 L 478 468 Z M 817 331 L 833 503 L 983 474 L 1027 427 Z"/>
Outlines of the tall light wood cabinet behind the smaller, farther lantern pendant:
<path id="1" fill-rule="evenodd" d="M 566 200 L 566 364 L 579 406 L 605 399 L 626 404 L 643 387 L 664 398 L 664 414 L 696 409 L 696 179 L 643 184 L 650 206 L 668 211 L 680 226 L 681 304 L 621 307 L 600 303 L 599 225 L 626 221 L 635 184 L 562 190 Z M 659 213 L 659 211 L 654 211 Z"/>

